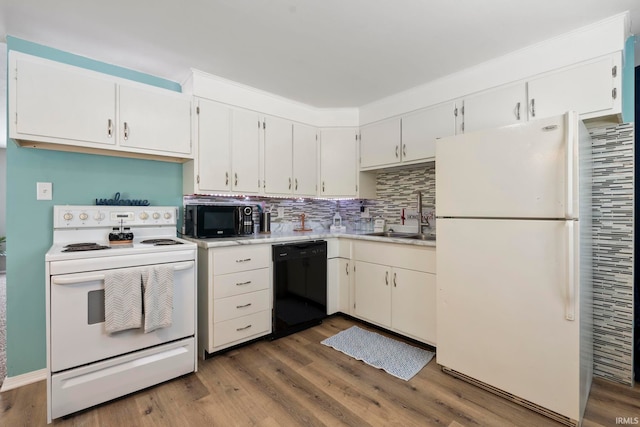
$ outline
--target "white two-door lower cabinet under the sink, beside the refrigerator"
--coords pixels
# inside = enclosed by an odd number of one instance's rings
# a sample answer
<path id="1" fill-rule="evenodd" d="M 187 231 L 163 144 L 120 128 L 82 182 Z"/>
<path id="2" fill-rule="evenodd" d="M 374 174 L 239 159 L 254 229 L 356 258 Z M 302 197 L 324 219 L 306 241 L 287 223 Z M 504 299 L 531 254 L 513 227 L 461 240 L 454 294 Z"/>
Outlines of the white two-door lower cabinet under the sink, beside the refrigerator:
<path id="1" fill-rule="evenodd" d="M 353 258 L 353 315 L 435 346 L 435 248 L 355 242 Z"/>

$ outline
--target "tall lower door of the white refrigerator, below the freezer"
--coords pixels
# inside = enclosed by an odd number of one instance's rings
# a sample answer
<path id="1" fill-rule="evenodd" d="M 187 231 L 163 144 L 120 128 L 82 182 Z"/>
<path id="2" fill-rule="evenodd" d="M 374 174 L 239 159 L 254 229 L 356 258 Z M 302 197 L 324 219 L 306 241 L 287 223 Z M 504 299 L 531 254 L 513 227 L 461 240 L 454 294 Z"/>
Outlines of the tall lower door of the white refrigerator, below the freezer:
<path id="1" fill-rule="evenodd" d="M 577 420 L 575 223 L 439 219 L 437 361 Z"/>

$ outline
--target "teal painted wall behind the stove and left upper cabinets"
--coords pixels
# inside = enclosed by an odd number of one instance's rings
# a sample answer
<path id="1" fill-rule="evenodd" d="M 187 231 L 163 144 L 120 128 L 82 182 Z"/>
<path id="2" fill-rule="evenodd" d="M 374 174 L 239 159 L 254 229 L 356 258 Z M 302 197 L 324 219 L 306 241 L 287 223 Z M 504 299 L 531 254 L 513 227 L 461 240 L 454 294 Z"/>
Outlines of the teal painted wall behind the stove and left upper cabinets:
<path id="1" fill-rule="evenodd" d="M 20 51 L 137 82 L 180 85 L 57 49 L 7 37 Z M 7 139 L 7 375 L 46 368 L 45 263 L 53 205 L 92 205 L 121 192 L 154 205 L 182 205 L 182 165 L 151 160 L 20 148 Z M 36 200 L 36 182 L 53 183 L 53 200 Z"/>

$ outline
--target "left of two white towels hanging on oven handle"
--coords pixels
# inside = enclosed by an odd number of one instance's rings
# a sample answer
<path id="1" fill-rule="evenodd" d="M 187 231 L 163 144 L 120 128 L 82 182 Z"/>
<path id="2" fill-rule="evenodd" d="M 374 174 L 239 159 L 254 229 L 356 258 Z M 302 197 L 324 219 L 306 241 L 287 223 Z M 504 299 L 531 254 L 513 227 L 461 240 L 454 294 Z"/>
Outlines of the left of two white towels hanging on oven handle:
<path id="1" fill-rule="evenodd" d="M 104 320 L 107 333 L 142 327 L 140 269 L 114 270 L 104 275 Z"/>

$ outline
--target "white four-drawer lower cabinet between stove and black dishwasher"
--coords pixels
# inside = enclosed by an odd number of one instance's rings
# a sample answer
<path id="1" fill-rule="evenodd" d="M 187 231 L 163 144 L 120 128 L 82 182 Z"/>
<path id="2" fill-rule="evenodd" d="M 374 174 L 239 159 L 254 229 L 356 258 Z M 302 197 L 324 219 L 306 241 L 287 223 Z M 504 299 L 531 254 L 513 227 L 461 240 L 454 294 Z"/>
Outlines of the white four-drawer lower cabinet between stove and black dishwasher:
<path id="1" fill-rule="evenodd" d="M 198 261 L 200 355 L 270 334 L 271 246 L 199 248 Z"/>

